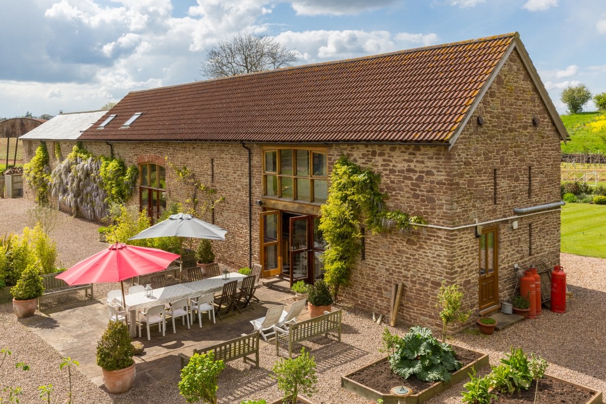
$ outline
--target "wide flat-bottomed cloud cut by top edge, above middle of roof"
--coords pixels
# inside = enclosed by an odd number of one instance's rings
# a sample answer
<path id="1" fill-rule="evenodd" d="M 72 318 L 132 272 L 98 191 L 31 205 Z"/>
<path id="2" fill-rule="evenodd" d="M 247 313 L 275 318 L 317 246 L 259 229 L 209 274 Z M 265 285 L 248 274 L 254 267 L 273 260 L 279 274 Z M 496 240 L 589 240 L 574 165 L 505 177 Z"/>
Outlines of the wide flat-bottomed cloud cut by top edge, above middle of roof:
<path id="1" fill-rule="evenodd" d="M 467 0 L 474 1 L 474 0 Z M 480 0 L 483 1 L 483 0 Z M 292 0 L 297 15 L 355 15 L 396 3 L 396 0 Z"/>

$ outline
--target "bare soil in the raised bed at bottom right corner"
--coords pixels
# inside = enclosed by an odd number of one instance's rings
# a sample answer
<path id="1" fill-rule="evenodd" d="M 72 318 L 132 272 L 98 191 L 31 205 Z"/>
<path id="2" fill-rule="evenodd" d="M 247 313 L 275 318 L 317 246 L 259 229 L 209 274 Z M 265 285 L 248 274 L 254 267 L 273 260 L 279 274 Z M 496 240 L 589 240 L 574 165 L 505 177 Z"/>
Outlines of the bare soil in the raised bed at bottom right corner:
<path id="1" fill-rule="evenodd" d="M 493 400 L 493 403 L 532 404 L 534 403 L 535 388 L 536 382 L 533 382 L 528 390 L 522 390 L 514 394 L 495 392 L 499 400 Z M 591 397 L 593 397 L 593 393 L 578 389 L 573 385 L 557 380 L 541 379 L 536 402 L 537 404 L 581 404 L 588 402 Z"/>

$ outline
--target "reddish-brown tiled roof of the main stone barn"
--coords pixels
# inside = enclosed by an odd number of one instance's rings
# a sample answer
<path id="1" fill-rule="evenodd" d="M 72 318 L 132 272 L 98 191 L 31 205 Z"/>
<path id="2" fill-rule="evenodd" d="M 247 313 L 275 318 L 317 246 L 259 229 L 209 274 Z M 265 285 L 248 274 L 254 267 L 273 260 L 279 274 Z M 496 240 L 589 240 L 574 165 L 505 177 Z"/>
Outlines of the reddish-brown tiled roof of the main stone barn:
<path id="1" fill-rule="evenodd" d="M 452 145 L 514 48 L 565 139 L 518 33 L 133 91 L 79 139 Z"/>

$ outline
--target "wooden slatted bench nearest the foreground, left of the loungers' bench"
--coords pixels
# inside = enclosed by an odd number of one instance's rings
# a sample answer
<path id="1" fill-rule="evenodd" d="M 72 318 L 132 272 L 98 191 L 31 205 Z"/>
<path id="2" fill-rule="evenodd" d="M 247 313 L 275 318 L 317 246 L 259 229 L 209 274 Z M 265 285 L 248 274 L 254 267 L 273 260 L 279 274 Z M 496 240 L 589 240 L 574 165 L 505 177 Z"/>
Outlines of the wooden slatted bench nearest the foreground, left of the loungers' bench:
<path id="1" fill-rule="evenodd" d="M 218 343 L 216 345 L 207 346 L 207 348 L 194 349 L 192 356 L 195 354 L 205 354 L 213 351 L 215 354 L 215 360 L 221 359 L 223 362 L 230 362 L 238 358 L 243 358 L 244 363 L 250 363 L 259 367 L 259 331 L 255 331 L 252 334 L 243 335 L 241 337 L 230 339 L 228 341 Z M 248 356 L 255 354 L 255 359 L 251 359 Z M 179 354 L 181 359 L 181 369 L 187 365 L 191 356 L 185 354 Z"/>

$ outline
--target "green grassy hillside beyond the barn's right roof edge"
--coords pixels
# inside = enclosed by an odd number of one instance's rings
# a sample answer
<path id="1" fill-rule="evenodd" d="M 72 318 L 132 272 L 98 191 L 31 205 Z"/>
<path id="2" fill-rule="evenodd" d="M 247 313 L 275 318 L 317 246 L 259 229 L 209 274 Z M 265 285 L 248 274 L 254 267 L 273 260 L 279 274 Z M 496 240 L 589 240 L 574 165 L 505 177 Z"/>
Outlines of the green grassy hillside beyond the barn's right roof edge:
<path id="1" fill-rule="evenodd" d="M 562 122 L 570 134 L 568 144 L 562 142 L 562 153 L 597 153 L 606 154 L 606 142 L 600 135 L 606 137 L 606 129 L 598 132 L 591 131 L 587 124 L 594 122 L 603 114 L 600 111 L 582 112 L 573 115 L 561 115 Z"/>

